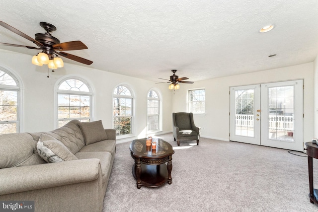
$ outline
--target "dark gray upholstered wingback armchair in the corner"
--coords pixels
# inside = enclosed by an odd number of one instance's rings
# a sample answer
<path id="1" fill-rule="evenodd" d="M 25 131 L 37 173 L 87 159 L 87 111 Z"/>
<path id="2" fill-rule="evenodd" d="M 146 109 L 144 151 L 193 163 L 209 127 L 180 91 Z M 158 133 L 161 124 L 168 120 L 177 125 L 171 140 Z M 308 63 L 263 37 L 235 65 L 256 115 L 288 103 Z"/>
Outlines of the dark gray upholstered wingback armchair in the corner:
<path id="1" fill-rule="evenodd" d="M 200 127 L 196 127 L 193 121 L 193 113 L 172 113 L 173 121 L 173 138 L 177 141 L 178 146 L 180 141 L 196 140 L 199 145 Z"/>

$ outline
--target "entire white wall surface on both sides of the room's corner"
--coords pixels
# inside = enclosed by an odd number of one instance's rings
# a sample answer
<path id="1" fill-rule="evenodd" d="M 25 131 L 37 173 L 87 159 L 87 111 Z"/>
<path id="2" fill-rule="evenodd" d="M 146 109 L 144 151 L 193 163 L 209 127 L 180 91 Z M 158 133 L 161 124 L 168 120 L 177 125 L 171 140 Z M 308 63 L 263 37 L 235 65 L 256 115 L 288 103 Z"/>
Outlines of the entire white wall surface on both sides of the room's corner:
<path id="1" fill-rule="evenodd" d="M 229 77 L 196 81 L 194 84 L 181 84 L 180 89 L 168 90 L 167 84 L 156 84 L 147 80 L 100 71 L 72 64 L 47 78 L 47 68 L 31 64 L 30 55 L 0 50 L 0 67 L 16 73 L 23 82 L 23 108 L 21 132 L 51 131 L 54 125 L 54 85 L 64 76 L 77 75 L 88 81 L 95 91 L 94 120 L 102 120 L 105 128 L 112 127 L 112 91 L 120 83 L 127 83 L 135 93 L 135 129 L 136 135 L 145 137 L 146 96 L 149 89 L 157 87 L 162 94 L 163 132 L 171 131 L 171 113 L 186 111 L 187 89 L 204 87 L 206 89 L 206 115 L 195 115 L 198 126 L 204 127 L 202 136 L 229 141 L 231 86 L 304 79 L 304 141 L 314 136 L 314 115 L 318 120 L 318 103 L 314 107 L 314 70 L 318 76 L 317 63 L 307 63 L 286 68 L 258 71 Z M 18 63 L 16 62 L 18 61 Z M 107 64 L 105 64 L 107 66 Z M 317 82 L 317 80 L 316 80 Z M 317 83 L 315 83 L 316 89 Z M 316 96 L 316 95 L 315 95 Z M 317 99 L 317 98 L 316 98 Z M 315 122 L 317 128 L 318 121 Z M 315 129 L 316 129 L 315 128 Z M 315 130 L 318 137 L 318 130 Z"/>

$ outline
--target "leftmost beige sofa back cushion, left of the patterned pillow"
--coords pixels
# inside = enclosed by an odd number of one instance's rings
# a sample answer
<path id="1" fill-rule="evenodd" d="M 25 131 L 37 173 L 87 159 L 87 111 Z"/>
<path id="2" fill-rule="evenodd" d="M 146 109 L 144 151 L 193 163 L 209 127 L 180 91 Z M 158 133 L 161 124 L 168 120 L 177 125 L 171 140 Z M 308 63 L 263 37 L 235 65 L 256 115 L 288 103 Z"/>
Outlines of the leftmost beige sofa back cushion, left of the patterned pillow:
<path id="1" fill-rule="evenodd" d="M 36 141 L 27 133 L 0 135 L 0 168 L 43 164 Z"/>

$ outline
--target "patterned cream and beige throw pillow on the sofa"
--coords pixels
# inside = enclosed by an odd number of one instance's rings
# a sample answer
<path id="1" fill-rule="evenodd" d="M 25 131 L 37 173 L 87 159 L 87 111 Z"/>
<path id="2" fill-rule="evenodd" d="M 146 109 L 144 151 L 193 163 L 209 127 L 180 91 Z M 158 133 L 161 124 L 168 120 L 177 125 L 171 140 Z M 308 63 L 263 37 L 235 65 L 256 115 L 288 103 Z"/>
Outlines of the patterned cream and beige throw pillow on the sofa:
<path id="1" fill-rule="evenodd" d="M 61 141 L 38 141 L 36 147 L 47 163 L 78 159 Z"/>

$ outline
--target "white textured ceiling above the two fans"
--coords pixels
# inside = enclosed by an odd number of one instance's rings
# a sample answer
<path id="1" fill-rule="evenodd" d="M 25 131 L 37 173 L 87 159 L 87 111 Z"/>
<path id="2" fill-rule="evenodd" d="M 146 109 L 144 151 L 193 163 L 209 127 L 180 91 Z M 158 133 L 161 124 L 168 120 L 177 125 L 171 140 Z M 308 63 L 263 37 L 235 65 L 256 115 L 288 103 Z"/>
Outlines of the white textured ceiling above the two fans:
<path id="1" fill-rule="evenodd" d="M 308 63 L 318 55 L 318 0 L 1 0 L 0 8 L 1 21 L 30 37 L 45 32 L 44 21 L 57 27 L 52 35 L 61 42 L 88 47 L 68 53 L 92 65 L 63 58 L 66 63 L 156 82 L 172 69 L 197 81 Z M 272 31 L 259 32 L 269 24 Z M 35 46 L 1 26 L 0 42 Z"/>

